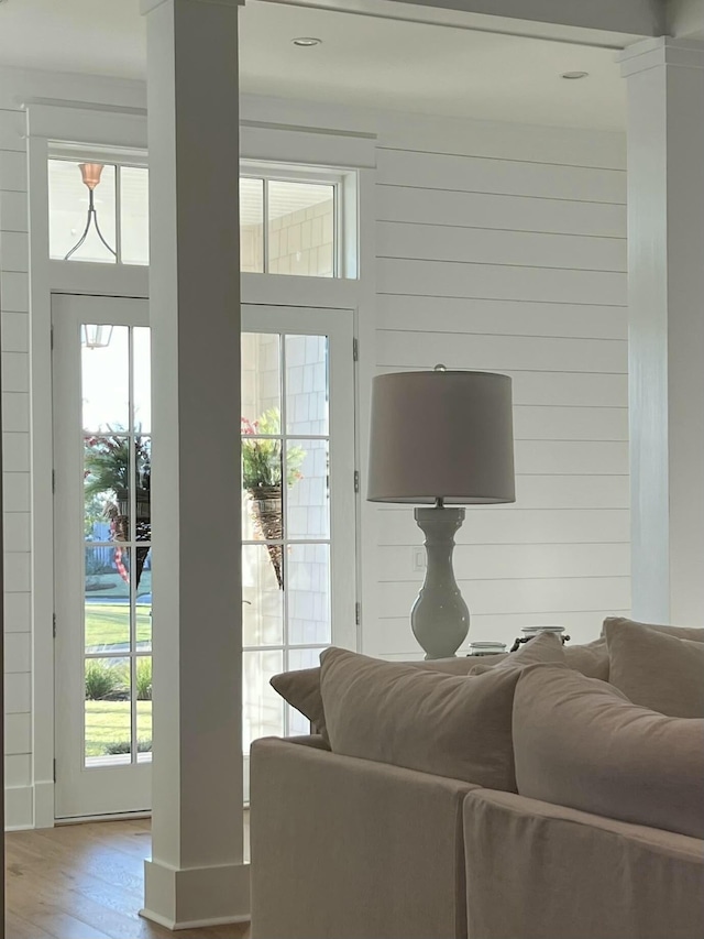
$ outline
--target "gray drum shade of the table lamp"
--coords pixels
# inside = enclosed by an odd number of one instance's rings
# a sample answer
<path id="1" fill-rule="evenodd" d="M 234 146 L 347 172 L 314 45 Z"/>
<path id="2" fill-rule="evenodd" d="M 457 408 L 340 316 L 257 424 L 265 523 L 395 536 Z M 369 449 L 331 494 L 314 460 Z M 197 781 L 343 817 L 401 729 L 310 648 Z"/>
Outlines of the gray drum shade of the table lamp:
<path id="1" fill-rule="evenodd" d="M 400 372 L 372 383 L 371 502 L 515 502 L 512 380 Z"/>

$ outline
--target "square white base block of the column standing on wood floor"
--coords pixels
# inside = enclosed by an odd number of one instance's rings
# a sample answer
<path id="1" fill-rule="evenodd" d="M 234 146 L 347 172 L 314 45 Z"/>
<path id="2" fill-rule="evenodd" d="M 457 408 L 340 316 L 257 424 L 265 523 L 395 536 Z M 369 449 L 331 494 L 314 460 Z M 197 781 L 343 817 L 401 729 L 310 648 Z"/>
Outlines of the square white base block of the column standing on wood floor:
<path id="1" fill-rule="evenodd" d="M 144 862 L 140 916 L 166 929 L 196 929 L 250 920 L 250 865 L 177 870 Z"/>

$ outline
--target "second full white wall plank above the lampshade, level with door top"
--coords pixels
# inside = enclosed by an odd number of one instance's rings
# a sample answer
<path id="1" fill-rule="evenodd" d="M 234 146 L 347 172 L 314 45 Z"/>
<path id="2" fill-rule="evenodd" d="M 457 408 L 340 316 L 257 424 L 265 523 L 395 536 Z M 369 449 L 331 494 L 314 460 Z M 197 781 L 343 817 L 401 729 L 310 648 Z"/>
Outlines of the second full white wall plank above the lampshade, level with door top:
<path id="1" fill-rule="evenodd" d="M 380 329 L 574 339 L 627 339 L 620 306 L 381 294 Z"/>

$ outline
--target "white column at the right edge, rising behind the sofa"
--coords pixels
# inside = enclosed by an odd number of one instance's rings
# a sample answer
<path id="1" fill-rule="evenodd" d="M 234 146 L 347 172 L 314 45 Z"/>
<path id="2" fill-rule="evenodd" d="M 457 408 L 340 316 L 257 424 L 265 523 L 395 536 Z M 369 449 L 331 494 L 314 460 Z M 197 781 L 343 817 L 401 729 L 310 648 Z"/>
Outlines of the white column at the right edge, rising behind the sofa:
<path id="1" fill-rule="evenodd" d="M 647 40 L 628 88 L 634 614 L 704 623 L 704 43 Z"/>

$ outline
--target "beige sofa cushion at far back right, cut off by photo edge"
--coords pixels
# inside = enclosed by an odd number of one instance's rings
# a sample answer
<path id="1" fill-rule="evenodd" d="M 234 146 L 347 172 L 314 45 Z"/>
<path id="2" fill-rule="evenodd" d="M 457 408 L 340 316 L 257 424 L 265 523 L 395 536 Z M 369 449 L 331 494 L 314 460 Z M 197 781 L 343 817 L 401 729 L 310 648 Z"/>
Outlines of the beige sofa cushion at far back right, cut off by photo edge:
<path id="1" fill-rule="evenodd" d="M 704 643 L 636 623 L 604 625 L 610 684 L 635 705 L 673 718 L 704 718 Z"/>

